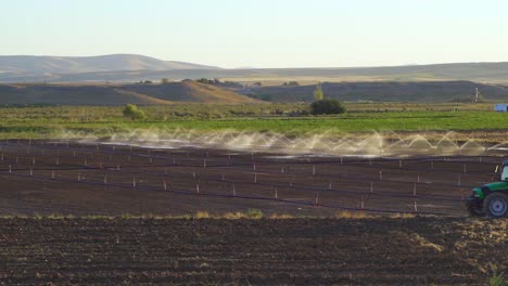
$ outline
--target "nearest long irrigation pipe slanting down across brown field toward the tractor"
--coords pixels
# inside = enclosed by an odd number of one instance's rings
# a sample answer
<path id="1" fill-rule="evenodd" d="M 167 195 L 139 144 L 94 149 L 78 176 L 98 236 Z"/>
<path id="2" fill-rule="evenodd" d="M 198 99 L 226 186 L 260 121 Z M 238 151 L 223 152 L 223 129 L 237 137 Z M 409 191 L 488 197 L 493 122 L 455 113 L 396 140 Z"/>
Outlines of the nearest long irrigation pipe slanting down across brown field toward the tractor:
<path id="1" fill-rule="evenodd" d="M 192 196 L 208 196 L 208 197 L 224 197 L 224 198 L 241 198 L 241 199 L 253 199 L 253 200 L 271 200 L 278 203 L 287 203 L 293 205 L 301 205 L 301 206 L 314 206 L 314 207 L 322 207 L 322 208 L 331 208 L 338 210 L 351 210 L 351 211 L 368 211 L 368 212 L 381 212 L 381 213 L 409 213 L 409 214 L 432 214 L 432 216 L 456 216 L 456 213 L 447 213 L 447 212 L 434 212 L 434 211 L 405 211 L 405 210 L 386 210 L 386 209 L 373 209 L 373 208 L 353 208 L 353 207 L 341 207 L 335 205 L 329 204 L 319 204 L 313 202 L 300 202 L 300 200 L 291 200 L 291 199 L 282 199 L 282 198 L 274 198 L 274 197 L 261 197 L 261 196 L 245 196 L 245 195 L 226 195 L 226 194 L 218 194 L 218 193 L 195 193 L 189 191 L 181 191 L 181 190 L 164 190 L 160 187 L 149 187 L 149 186 L 131 186 L 126 184 L 110 184 L 103 182 L 89 182 L 89 181 L 75 181 L 69 179 L 52 179 L 46 177 L 35 177 L 29 174 L 17 174 L 17 173 L 5 173 L 0 172 L 3 176 L 13 176 L 20 178 L 29 178 L 37 181 L 49 181 L 49 182 L 66 182 L 66 183 L 78 183 L 78 184 L 88 184 L 88 185 L 101 185 L 101 186 L 116 186 L 123 188 L 137 188 L 140 191 L 154 191 L 154 192 L 163 192 L 163 193 L 174 193 L 180 195 L 192 195 Z"/>

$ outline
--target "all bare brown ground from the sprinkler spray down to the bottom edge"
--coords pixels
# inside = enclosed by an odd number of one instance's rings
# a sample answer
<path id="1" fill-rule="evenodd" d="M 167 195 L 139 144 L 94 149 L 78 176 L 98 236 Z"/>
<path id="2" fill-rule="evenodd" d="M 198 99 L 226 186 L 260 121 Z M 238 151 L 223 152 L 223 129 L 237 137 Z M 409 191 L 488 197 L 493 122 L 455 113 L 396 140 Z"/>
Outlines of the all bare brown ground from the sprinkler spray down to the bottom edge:
<path id="1" fill-rule="evenodd" d="M 461 200 L 504 158 L 4 140 L 0 284 L 485 284 L 508 224 Z"/>

